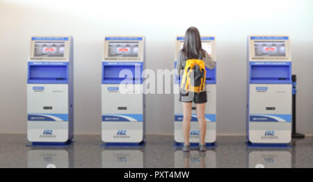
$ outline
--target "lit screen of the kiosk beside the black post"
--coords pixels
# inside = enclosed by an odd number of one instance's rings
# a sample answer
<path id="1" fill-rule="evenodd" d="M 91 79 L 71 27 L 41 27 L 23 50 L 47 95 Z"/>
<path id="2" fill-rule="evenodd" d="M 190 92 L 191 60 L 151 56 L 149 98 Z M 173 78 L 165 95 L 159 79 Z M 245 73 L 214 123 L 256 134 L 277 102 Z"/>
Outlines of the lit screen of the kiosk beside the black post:
<path id="1" fill-rule="evenodd" d="M 255 56 L 286 56 L 283 41 L 255 41 Z"/>

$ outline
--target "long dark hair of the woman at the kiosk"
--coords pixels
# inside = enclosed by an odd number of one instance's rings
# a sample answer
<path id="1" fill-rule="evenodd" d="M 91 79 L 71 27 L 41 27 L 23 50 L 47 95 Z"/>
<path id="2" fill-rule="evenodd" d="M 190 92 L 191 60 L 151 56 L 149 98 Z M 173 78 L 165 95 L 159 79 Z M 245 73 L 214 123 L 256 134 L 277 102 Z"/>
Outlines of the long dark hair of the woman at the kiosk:
<path id="1" fill-rule="evenodd" d="M 198 28 L 191 26 L 187 29 L 182 51 L 188 59 L 199 59 L 200 56 L 204 58 L 205 54 Z"/>

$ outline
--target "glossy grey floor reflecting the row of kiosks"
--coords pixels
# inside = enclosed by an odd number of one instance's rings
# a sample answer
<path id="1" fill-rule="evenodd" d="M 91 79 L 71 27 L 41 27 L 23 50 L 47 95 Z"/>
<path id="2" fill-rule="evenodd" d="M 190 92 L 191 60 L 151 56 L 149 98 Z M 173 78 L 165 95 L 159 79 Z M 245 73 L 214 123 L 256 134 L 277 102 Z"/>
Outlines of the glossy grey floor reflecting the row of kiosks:
<path id="1" fill-rule="evenodd" d="M 145 147 L 100 147 L 100 135 L 75 135 L 63 148 L 26 147 L 26 135 L 0 135 L 0 167 L 313 167 L 313 137 L 289 148 L 250 148 L 244 136 L 218 136 L 217 147 L 186 154 L 171 135 L 147 135 Z"/>

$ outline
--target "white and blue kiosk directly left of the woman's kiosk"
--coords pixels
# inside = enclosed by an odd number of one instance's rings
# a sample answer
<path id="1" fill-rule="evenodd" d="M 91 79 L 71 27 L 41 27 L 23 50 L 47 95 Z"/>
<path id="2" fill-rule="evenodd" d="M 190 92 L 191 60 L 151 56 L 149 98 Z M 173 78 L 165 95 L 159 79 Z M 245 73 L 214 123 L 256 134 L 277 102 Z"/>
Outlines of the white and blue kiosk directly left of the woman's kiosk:
<path id="1" fill-rule="evenodd" d="M 102 141 L 141 145 L 145 139 L 145 38 L 114 36 L 104 40 L 102 60 Z"/>

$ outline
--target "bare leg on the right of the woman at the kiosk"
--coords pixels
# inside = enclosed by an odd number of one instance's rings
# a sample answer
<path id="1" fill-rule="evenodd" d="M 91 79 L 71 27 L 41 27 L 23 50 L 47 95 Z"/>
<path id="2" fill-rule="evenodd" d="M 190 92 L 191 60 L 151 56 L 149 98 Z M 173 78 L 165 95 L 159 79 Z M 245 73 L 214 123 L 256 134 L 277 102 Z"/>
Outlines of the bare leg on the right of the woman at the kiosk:
<path id="1" fill-rule="evenodd" d="M 200 144 L 205 144 L 205 134 L 207 133 L 207 122 L 205 122 L 205 103 L 195 104 L 197 109 L 198 124 L 200 130 Z"/>

